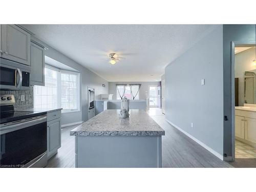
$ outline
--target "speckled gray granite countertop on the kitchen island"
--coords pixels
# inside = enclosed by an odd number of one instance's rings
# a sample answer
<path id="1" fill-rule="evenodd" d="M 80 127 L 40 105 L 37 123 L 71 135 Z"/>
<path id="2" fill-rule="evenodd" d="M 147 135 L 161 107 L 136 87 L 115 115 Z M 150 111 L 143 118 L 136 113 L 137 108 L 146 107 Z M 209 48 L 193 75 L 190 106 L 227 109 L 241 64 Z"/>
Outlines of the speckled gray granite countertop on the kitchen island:
<path id="1" fill-rule="evenodd" d="M 129 118 L 121 118 L 120 110 L 105 110 L 70 131 L 70 135 L 161 136 L 165 134 L 144 110 L 130 110 L 129 113 Z"/>

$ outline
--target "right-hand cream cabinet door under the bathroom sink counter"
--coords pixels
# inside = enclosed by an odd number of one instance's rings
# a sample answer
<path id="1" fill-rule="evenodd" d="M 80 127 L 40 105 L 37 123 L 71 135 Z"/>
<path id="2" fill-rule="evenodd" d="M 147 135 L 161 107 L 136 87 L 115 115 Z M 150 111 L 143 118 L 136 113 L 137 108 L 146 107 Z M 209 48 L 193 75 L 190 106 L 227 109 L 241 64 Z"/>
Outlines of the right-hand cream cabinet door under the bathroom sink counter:
<path id="1" fill-rule="evenodd" d="M 256 119 L 245 117 L 245 139 L 256 143 Z"/>

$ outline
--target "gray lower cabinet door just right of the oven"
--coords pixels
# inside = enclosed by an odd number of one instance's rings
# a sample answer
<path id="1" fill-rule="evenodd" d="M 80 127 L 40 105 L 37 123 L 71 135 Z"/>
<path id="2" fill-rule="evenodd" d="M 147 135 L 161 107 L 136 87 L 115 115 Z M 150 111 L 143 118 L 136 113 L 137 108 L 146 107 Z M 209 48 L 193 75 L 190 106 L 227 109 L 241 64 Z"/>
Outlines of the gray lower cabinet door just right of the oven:
<path id="1" fill-rule="evenodd" d="M 61 146 L 61 123 L 60 119 L 48 121 L 48 153 Z"/>

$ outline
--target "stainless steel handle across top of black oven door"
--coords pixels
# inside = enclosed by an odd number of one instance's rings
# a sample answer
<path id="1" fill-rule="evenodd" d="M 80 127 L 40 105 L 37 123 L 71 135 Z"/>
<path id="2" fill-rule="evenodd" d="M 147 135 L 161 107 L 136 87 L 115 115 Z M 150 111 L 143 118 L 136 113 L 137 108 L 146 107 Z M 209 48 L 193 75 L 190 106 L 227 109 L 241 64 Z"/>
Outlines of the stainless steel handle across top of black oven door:
<path id="1" fill-rule="evenodd" d="M 39 116 L 39 117 L 32 117 L 32 118 L 28 118 L 28 119 L 24 119 L 24 120 L 20 120 L 20 121 L 6 123 L 6 124 L 0 126 L 0 135 L 6 134 L 9 132 L 13 132 L 13 131 L 17 131 L 20 129 L 24 129 L 26 127 L 33 126 L 33 125 L 43 123 L 46 121 L 47 121 L 47 116 L 43 115 L 43 116 Z"/>

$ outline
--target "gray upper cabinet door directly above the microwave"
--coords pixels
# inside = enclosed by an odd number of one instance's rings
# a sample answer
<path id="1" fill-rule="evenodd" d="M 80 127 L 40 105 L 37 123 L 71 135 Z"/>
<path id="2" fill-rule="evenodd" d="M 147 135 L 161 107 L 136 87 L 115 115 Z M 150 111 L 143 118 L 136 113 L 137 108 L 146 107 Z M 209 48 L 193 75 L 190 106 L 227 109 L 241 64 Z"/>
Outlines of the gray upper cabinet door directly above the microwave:
<path id="1" fill-rule="evenodd" d="M 30 66 L 30 34 L 15 25 L 2 25 L 3 58 Z"/>

